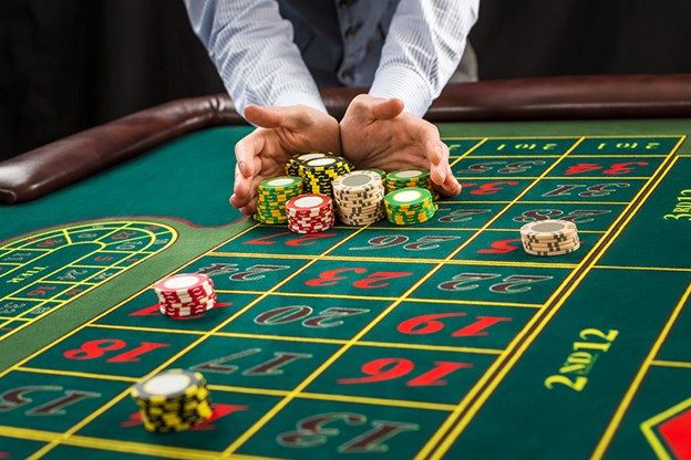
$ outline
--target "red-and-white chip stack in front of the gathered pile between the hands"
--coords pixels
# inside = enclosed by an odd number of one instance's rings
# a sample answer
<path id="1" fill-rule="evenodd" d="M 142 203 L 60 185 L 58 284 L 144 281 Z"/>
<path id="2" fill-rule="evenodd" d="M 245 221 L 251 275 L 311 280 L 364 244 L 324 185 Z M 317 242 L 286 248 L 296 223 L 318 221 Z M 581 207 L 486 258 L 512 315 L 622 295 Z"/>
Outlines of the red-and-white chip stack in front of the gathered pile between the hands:
<path id="1" fill-rule="evenodd" d="M 317 233 L 333 227 L 336 213 L 331 197 L 307 194 L 286 202 L 288 229 L 295 233 Z"/>

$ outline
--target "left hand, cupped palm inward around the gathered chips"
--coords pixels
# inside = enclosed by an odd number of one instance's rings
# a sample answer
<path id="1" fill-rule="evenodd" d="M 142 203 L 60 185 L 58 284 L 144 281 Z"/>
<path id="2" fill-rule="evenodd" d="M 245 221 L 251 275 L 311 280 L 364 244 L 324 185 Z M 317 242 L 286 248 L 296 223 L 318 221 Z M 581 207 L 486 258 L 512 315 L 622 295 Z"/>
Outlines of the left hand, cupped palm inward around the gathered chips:
<path id="1" fill-rule="evenodd" d="M 230 203 L 243 213 L 256 211 L 257 186 L 264 179 L 283 176 L 292 155 L 313 150 L 341 153 L 337 119 L 316 108 L 249 105 L 244 115 L 257 128 L 235 146 L 237 166 Z"/>

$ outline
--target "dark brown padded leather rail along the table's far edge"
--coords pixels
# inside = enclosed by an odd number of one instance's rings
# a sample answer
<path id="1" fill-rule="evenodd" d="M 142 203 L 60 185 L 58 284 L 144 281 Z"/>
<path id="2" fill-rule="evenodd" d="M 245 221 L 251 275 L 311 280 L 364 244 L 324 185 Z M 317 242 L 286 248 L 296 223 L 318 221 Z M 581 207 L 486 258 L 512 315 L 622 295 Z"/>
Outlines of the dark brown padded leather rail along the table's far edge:
<path id="1" fill-rule="evenodd" d="M 362 88 L 322 91 L 337 118 Z M 433 123 L 691 117 L 691 75 L 565 76 L 448 85 Z M 0 201 L 37 199 L 186 133 L 245 124 L 227 95 L 185 98 L 86 129 L 0 163 Z"/>

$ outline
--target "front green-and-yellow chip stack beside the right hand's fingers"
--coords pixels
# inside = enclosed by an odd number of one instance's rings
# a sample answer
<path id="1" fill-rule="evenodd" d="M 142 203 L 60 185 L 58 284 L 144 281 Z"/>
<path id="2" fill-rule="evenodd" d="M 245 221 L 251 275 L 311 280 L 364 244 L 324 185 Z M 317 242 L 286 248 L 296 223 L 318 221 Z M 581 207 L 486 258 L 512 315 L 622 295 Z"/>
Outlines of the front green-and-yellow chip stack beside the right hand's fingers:
<path id="1" fill-rule="evenodd" d="M 386 219 L 399 226 L 412 226 L 430 220 L 436 212 L 432 192 L 426 188 L 408 187 L 384 197 Z"/>

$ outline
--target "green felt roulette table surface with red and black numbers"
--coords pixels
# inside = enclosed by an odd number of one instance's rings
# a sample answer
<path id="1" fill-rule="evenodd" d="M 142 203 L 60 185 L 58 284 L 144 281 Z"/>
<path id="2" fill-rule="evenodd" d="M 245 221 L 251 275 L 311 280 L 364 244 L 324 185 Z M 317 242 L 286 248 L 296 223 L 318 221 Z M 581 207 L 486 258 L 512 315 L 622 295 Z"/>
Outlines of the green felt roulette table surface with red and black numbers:
<path id="1" fill-rule="evenodd" d="M 0 207 L 0 458 L 691 458 L 691 119 L 439 123 L 462 194 L 299 236 L 228 205 L 247 126 Z M 581 248 L 537 258 L 560 218 Z M 207 314 L 151 286 L 207 273 Z M 202 372 L 214 416 L 128 388 Z"/>

